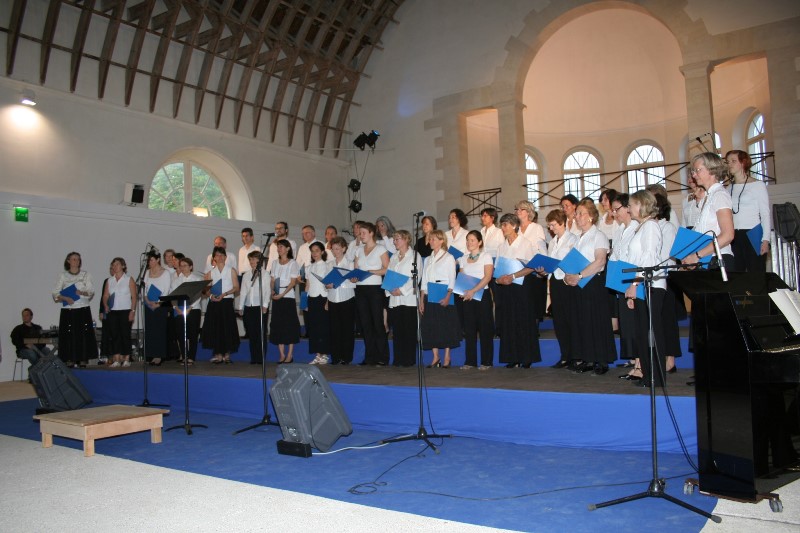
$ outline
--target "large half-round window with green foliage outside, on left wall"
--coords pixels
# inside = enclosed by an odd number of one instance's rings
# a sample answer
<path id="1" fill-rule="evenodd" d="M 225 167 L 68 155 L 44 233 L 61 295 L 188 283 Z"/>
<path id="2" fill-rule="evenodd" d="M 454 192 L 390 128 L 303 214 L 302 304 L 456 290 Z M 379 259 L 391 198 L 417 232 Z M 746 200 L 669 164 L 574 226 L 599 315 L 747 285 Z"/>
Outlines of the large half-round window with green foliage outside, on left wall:
<path id="1" fill-rule="evenodd" d="M 153 177 L 147 207 L 230 218 L 228 198 L 208 170 L 189 160 L 168 163 Z"/>

